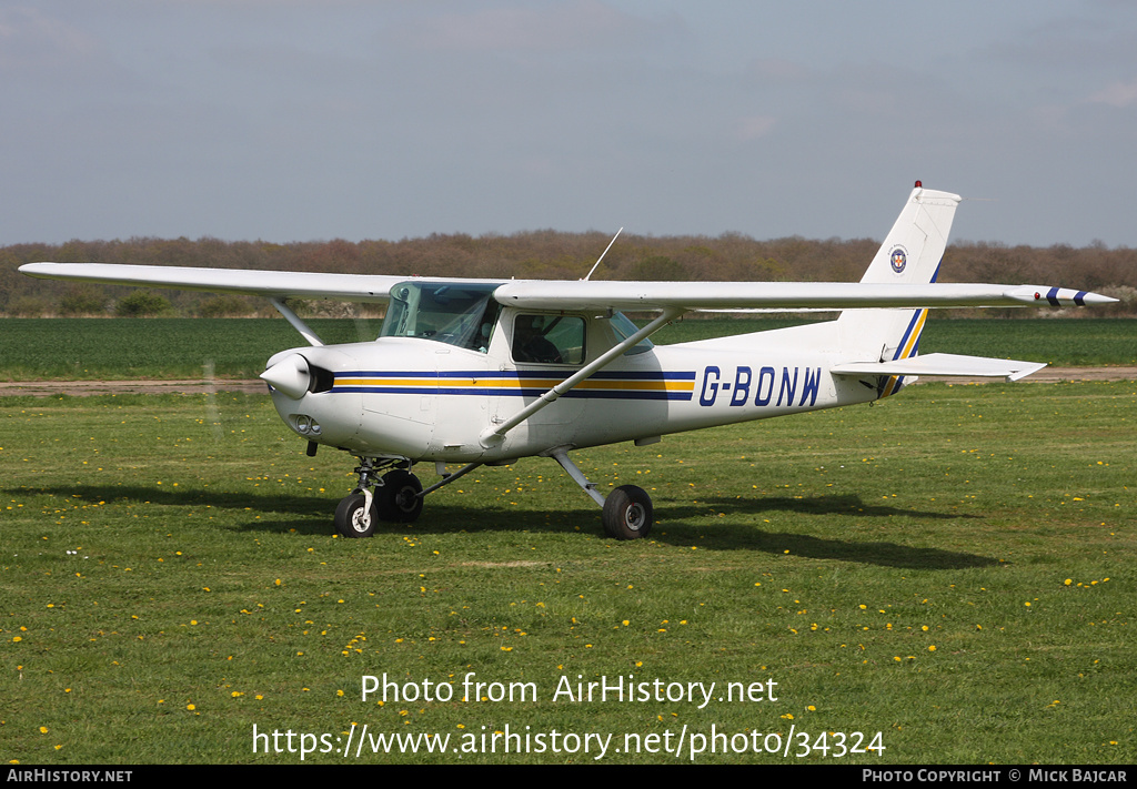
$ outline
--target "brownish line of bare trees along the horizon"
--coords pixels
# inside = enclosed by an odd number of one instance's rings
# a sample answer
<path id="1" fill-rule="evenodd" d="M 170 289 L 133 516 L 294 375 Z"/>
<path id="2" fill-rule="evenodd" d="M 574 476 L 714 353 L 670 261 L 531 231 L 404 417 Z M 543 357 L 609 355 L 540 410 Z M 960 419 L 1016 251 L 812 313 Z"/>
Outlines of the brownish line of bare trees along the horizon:
<path id="1" fill-rule="evenodd" d="M 579 280 L 608 243 L 603 233 L 553 230 L 487 234 L 432 234 L 401 241 L 343 240 L 271 243 L 213 238 L 68 241 L 0 247 L 0 314 L 6 316 L 248 316 L 269 314 L 264 299 L 189 291 L 139 290 L 33 280 L 25 263 L 115 263 L 217 268 Z M 623 235 L 594 275 L 598 280 L 835 281 L 861 279 L 880 242 L 872 239 L 758 241 L 739 233 L 719 236 Z M 953 243 L 944 255 L 943 282 L 993 282 L 1076 286 L 1121 299 L 1095 316 L 1137 315 L 1137 249 L 1095 242 L 1074 248 Z M 302 302 L 308 314 L 350 315 L 357 306 Z M 1031 310 L 1004 310 L 1007 315 Z M 272 313 L 275 314 L 275 313 Z M 991 313 L 988 312 L 988 315 Z"/>

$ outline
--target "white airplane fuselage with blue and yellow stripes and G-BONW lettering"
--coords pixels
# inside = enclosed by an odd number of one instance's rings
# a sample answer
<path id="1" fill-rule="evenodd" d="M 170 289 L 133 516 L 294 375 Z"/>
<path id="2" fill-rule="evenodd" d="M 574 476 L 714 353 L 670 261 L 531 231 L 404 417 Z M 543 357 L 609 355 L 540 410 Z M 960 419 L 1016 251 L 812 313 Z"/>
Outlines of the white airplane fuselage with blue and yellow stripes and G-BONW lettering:
<path id="1" fill-rule="evenodd" d="M 273 400 L 299 435 L 355 455 L 495 463 L 556 447 L 649 443 L 667 433 L 879 397 L 875 388 L 829 373 L 839 347 L 808 351 L 783 341 L 788 332 L 825 325 L 818 324 L 636 348 L 638 352 L 595 373 L 501 441 L 485 441 L 488 427 L 520 412 L 617 339 L 603 316 L 549 317 L 582 323 L 584 342 L 574 351 L 575 364 L 518 360 L 514 323 L 523 315 L 505 309 L 484 351 L 405 337 L 283 351 L 269 367 L 298 354 L 330 372 L 331 379 L 323 391 L 300 398 L 274 390 Z"/>

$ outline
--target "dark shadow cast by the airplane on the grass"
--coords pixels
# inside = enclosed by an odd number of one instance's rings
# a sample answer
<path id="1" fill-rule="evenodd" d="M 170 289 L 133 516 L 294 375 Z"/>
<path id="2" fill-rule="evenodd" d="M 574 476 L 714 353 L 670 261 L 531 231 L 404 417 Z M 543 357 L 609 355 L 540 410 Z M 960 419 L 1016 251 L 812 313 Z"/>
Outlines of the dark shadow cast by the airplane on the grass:
<path id="1" fill-rule="evenodd" d="M 7 493 L 27 496 L 26 488 L 8 488 Z M 327 501 L 318 495 L 249 495 L 226 493 L 206 490 L 156 490 L 150 487 L 131 485 L 77 485 L 41 488 L 38 492 L 59 496 L 69 504 L 90 501 L 135 501 L 155 506 L 211 507 L 222 510 L 249 510 L 248 521 L 238 529 L 299 534 L 326 535 Z M 804 533 L 766 531 L 756 525 L 739 524 L 729 520 L 733 514 L 748 516 L 764 513 L 787 513 L 818 515 L 825 518 L 872 518 L 889 521 L 895 518 L 893 533 L 903 537 L 904 520 L 954 521 L 980 518 L 979 515 L 944 512 L 915 512 L 888 505 L 865 504 L 855 495 L 815 496 L 808 498 L 717 498 L 692 504 L 674 504 L 662 507 L 666 514 L 665 525 L 654 531 L 649 539 L 655 542 L 677 546 L 695 545 L 703 550 L 761 551 L 781 556 L 789 551 L 792 556 L 837 559 L 857 564 L 879 565 L 898 568 L 962 570 L 999 564 L 998 559 L 943 550 L 939 548 L 916 548 L 893 541 L 864 542 L 813 537 Z M 657 510 L 658 512 L 658 510 Z M 723 513 L 728 517 L 719 517 Z M 259 514 L 256 518 L 252 514 Z M 489 531 L 528 531 L 566 533 L 574 526 L 588 537 L 599 537 L 599 515 L 592 508 L 546 510 L 480 508 L 467 509 L 441 505 L 431 509 L 430 515 L 414 524 L 383 524 L 379 534 L 456 534 Z M 225 526 L 229 529 L 229 526 Z M 604 538 L 607 539 L 607 538 Z M 360 545 L 366 545 L 362 541 Z"/>

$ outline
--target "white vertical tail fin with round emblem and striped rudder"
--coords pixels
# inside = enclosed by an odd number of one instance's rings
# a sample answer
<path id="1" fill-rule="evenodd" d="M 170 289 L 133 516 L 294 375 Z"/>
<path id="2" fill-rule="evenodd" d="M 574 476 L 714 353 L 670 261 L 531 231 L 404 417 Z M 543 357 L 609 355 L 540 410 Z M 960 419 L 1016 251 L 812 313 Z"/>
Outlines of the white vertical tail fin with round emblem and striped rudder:
<path id="1" fill-rule="evenodd" d="M 958 194 L 923 189 L 918 181 L 861 282 L 935 282 L 961 200 Z M 865 362 L 915 356 L 927 316 L 927 309 L 846 310 L 838 318 L 841 346 Z M 882 381 L 880 396 L 899 391 L 904 382 L 903 376 Z"/>

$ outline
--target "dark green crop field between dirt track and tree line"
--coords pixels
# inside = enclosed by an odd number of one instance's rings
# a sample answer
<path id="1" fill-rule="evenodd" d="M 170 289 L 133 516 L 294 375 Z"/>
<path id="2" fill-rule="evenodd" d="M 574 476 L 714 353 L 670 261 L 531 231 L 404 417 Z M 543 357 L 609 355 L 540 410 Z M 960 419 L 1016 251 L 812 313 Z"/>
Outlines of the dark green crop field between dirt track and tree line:
<path id="1" fill-rule="evenodd" d="M 790 325 L 786 318 L 680 321 L 662 343 Z M 376 319 L 313 319 L 325 342 L 371 340 Z M 304 340 L 283 318 L 0 318 L 0 376 L 36 379 L 256 377 L 269 356 Z M 1137 319 L 929 319 L 921 351 L 974 354 L 1053 365 L 1137 364 Z"/>

